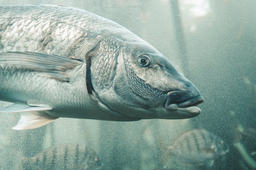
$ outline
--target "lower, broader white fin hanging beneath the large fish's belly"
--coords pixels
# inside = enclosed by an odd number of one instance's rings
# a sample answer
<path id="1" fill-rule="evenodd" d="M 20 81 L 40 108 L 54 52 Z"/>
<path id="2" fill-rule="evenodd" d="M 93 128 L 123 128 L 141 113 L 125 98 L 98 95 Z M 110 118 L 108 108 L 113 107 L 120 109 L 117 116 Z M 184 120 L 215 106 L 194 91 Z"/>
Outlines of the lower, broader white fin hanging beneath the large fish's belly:
<path id="1" fill-rule="evenodd" d="M 24 112 L 20 114 L 19 122 L 12 129 L 27 130 L 39 128 L 43 125 L 51 123 L 58 117 L 52 117 L 45 112 Z"/>

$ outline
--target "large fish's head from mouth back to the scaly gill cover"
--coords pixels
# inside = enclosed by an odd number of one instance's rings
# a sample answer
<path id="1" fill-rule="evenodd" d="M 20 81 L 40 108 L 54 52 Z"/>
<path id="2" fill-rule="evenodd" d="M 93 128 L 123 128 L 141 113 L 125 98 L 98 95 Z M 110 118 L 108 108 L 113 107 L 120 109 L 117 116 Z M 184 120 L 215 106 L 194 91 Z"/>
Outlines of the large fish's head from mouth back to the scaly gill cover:
<path id="1" fill-rule="evenodd" d="M 112 110 L 140 119 L 195 117 L 203 97 L 154 47 L 145 41 L 118 45 L 111 88 L 98 92 Z M 113 50 L 114 51 L 114 50 Z"/>

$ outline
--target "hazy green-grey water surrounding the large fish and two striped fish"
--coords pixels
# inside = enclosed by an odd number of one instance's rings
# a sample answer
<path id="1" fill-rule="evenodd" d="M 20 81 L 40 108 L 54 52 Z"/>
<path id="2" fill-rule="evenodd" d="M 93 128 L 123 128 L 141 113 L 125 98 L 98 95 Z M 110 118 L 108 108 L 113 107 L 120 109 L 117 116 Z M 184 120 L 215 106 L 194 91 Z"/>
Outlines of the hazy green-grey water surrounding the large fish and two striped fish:
<path id="1" fill-rule="evenodd" d="M 191 119 L 59 118 L 21 131 L 12 130 L 19 114 L 1 113 L 0 169 L 29 169 L 24 157 L 78 143 L 97 153 L 102 169 L 256 169 L 256 1 L 0 0 L 0 5 L 30 3 L 73 6 L 117 22 L 165 55 L 205 101 Z M 209 166 L 167 153 L 167 146 L 194 129 L 222 138 L 229 152 Z"/>

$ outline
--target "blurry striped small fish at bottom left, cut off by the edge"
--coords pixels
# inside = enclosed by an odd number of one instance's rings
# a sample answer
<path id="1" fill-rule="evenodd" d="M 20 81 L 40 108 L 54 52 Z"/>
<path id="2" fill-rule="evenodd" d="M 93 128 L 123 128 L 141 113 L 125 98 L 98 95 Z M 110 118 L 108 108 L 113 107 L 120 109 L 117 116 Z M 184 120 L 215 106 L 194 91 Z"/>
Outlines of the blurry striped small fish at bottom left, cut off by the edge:
<path id="1" fill-rule="evenodd" d="M 33 157 L 23 157 L 24 169 L 101 169 L 94 150 L 79 144 L 67 144 L 45 149 Z"/>

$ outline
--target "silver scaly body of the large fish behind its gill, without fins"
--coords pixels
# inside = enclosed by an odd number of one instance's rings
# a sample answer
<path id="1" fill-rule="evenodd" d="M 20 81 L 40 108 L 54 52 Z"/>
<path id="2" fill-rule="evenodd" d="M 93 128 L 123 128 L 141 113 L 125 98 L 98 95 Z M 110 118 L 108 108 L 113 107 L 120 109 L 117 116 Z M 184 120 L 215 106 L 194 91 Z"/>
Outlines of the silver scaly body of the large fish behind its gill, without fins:
<path id="1" fill-rule="evenodd" d="M 102 39 L 95 38 L 102 36 L 99 26 L 112 23 L 86 11 L 51 5 L 0 6 L 0 14 L 0 52 L 31 51 L 83 59 Z M 73 83 L 61 83 L 16 68 L 5 69 L 6 66 L 0 67 L 0 91 L 5 92 L 0 100 L 15 103 L 40 99 L 42 103 L 55 105 L 56 110 L 60 106 L 61 117 L 104 119 L 104 115 L 108 116 L 88 96 L 85 69 L 80 75 L 72 75 L 80 77 Z M 19 76 L 15 77 L 13 72 Z M 26 86 L 29 88 L 24 89 Z"/>

